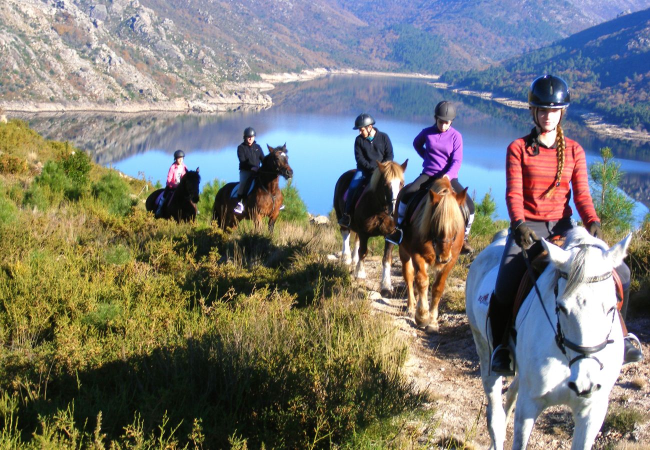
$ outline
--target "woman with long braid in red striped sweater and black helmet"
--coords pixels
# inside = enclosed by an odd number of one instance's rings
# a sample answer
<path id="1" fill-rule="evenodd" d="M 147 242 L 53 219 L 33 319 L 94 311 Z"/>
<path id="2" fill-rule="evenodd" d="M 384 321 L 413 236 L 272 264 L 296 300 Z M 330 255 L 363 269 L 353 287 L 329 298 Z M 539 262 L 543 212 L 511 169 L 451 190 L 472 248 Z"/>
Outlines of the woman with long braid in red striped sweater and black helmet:
<path id="1" fill-rule="evenodd" d="M 512 321 L 512 308 L 526 265 L 522 250 L 533 258 L 541 250 L 539 237 L 564 234 L 577 226 L 571 219 L 569 199 L 573 202 L 590 234 L 603 239 L 601 224 L 589 191 L 587 164 L 582 147 L 564 136 L 561 123 L 570 103 L 569 86 L 554 75 L 536 78 L 528 89 L 528 107 L 534 127 L 525 137 L 513 141 L 506 153 L 506 205 L 510 232 L 499 266 L 495 291 L 489 303 L 493 348 L 493 373 L 510 374 L 510 348 L 506 330 Z M 630 270 L 616 268 L 623 284 L 623 302 L 627 303 Z M 634 344 L 634 335 L 624 339 L 624 363 L 643 358 Z"/>

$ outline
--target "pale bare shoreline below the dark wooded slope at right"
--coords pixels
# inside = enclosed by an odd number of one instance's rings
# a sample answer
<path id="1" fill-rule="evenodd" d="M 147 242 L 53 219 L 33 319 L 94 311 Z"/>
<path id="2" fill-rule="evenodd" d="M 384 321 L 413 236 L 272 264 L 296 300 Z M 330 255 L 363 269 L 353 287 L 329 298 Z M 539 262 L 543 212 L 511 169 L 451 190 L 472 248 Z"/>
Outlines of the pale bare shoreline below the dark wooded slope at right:
<path id="1" fill-rule="evenodd" d="M 514 109 L 528 109 L 528 103 L 525 101 L 519 101 L 507 97 L 495 97 L 492 92 L 480 92 L 476 90 L 469 90 L 463 88 L 453 88 L 447 83 L 428 83 L 438 89 L 447 89 L 456 94 L 461 94 L 465 96 L 473 96 L 482 98 L 489 101 L 495 101 L 501 105 L 505 105 Z M 624 140 L 640 140 L 640 141 L 650 141 L 650 133 L 643 133 L 643 131 L 636 131 L 631 128 L 625 128 L 614 124 L 608 124 L 604 121 L 603 116 L 595 112 L 580 112 L 580 119 L 584 122 L 584 125 L 602 137 L 612 137 L 616 139 Z"/>

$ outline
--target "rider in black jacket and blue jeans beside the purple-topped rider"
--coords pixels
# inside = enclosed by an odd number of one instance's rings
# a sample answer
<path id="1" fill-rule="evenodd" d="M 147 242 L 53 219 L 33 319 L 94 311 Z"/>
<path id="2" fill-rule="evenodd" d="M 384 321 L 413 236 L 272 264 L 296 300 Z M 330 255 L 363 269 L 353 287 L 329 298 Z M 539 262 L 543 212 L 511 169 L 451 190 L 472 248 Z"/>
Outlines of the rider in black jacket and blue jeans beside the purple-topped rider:
<path id="1" fill-rule="evenodd" d="M 357 189 L 359 189 L 361 183 L 372 176 L 372 172 L 377 168 L 377 161 L 382 163 L 393 161 L 391 139 L 386 133 L 376 129 L 374 124 L 374 118 L 366 112 L 361 112 L 354 120 L 352 129 L 359 130 L 359 134 L 354 140 L 354 159 L 357 161 L 357 171 L 350 180 L 343 215 L 339 219 L 339 225 L 344 228 L 350 228 L 350 222 L 352 221 L 350 214 L 352 213 L 352 206 L 354 206 Z"/>

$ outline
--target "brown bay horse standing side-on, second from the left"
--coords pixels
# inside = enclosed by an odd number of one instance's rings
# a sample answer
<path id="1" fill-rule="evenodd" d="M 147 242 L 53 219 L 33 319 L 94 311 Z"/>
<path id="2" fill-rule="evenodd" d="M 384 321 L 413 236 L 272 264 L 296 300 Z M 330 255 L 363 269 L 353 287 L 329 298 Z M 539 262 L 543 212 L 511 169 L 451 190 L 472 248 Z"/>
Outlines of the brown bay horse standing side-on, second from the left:
<path id="1" fill-rule="evenodd" d="M 268 144 L 268 155 L 262 161 L 262 166 L 255 176 L 255 186 L 246 196 L 244 213 L 235 214 L 233 209 L 237 205 L 237 198 L 233 197 L 233 189 L 237 183 L 227 183 L 219 189 L 214 197 L 212 220 L 216 220 L 221 228 L 236 227 L 239 220 L 250 218 L 254 222 L 261 222 L 268 217 L 268 230 L 273 231 L 280 207 L 284 197 L 279 188 L 279 176 L 291 179 L 293 170 L 289 166 L 287 157 L 287 144 L 272 148 Z"/>

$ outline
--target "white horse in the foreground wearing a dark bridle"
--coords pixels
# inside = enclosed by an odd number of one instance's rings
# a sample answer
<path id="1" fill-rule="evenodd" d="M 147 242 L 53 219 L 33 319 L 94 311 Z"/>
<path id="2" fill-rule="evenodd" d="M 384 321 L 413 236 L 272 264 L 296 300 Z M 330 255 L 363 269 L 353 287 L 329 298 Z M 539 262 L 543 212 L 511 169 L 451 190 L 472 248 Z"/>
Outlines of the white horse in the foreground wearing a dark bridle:
<path id="1" fill-rule="evenodd" d="M 514 449 L 526 447 L 541 411 L 556 404 L 566 404 L 573 413 L 571 449 L 593 445 L 623 363 L 612 270 L 625 258 L 631 237 L 608 248 L 584 228 L 574 228 L 563 248 L 542 240 L 550 263 L 537 280 L 539 294 L 532 289 L 515 319 L 517 338 L 510 344 L 517 375 L 508 388 L 505 408 L 502 377 L 489 373 L 492 348 L 487 320 L 505 237 L 487 246 L 472 263 L 465 308 L 480 357 L 491 448 L 503 448 L 515 400 Z"/>

